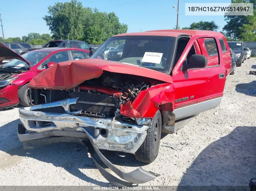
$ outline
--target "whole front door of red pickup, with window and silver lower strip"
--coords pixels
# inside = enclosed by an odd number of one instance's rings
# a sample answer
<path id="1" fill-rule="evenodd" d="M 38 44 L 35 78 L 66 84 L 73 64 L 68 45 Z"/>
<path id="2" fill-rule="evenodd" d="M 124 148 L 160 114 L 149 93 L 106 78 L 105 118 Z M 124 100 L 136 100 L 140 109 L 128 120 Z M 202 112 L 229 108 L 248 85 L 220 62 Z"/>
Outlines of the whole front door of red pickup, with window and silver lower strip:
<path id="1" fill-rule="evenodd" d="M 201 39 L 207 39 L 208 41 L 200 44 L 198 40 Z M 195 46 L 199 47 L 194 48 Z M 207 66 L 184 69 L 182 66 L 189 64 L 189 58 L 193 54 L 206 56 Z M 216 59 L 212 59 L 212 56 L 215 56 Z M 172 70 L 175 88 L 175 110 L 173 111 L 175 120 L 218 106 L 223 96 L 226 81 L 225 73 L 218 37 L 198 35 L 191 37 Z"/>

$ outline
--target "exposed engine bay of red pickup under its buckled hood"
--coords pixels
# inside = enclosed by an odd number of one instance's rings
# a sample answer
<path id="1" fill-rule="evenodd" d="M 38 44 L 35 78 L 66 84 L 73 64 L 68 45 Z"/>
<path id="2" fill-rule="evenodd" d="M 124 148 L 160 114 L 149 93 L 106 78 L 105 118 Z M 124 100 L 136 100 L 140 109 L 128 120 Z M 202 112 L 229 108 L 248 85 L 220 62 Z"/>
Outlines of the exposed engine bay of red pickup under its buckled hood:
<path id="1" fill-rule="evenodd" d="M 70 112 L 81 111 L 82 116 L 112 118 L 120 113 L 121 104 L 135 100 L 140 91 L 150 88 L 152 82 L 151 78 L 104 72 L 100 77 L 87 80 L 73 89 L 30 89 L 29 96 L 32 105 L 78 97 L 76 103 L 69 106 Z M 38 111 L 65 113 L 63 107 L 41 108 Z"/>

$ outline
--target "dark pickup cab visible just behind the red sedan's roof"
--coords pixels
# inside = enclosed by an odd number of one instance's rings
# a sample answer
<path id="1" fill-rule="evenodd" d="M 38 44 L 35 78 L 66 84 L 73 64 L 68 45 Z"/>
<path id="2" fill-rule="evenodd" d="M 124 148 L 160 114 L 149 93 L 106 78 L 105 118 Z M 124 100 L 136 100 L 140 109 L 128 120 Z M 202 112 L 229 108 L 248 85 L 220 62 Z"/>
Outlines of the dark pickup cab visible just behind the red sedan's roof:
<path id="1" fill-rule="evenodd" d="M 42 46 L 42 48 L 80 48 L 90 50 L 91 47 L 84 41 L 81 40 L 53 40 Z"/>

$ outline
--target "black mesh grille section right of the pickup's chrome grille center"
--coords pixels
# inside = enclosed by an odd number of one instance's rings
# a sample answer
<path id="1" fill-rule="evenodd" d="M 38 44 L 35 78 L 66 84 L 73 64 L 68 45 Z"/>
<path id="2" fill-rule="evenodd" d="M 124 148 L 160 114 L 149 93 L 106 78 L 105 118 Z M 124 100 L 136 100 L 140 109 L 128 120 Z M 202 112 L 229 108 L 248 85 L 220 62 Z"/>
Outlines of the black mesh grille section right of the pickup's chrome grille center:
<path id="1" fill-rule="evenodd" d="M 102 94 L 92 94 L 86 92 L 72 92 L 70 98 L 78 97 L 78 101 L 85 101 L 90 103 L 76 103 L 70 105 L 71 111 L 82 110 L 85 113 L 93 113 L 100 116 L 114 116 L 117 107 L 118 99 L 116 97 L 102 95 Z M 114 106 L 106 105 L 96 105 L 96 103 L 108 103 L 114 104 Z"/>

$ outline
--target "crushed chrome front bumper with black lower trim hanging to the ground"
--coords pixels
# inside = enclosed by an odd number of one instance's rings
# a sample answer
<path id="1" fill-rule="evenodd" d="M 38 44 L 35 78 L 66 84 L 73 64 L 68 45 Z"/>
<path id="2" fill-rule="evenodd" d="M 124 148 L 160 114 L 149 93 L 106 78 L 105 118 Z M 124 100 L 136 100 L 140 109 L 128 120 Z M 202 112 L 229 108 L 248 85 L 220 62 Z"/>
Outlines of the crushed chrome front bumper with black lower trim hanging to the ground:
<path id="1" fill-rule="evenodd" d="M 19 109 L 19 115 L 22 124 L 18 124 L 18 138 L 23 142 L 24 148 L 57 142 L 75 142 L 86 145 L 100 173 L 115 186 L 146 183 L 160 176 L 141 167 L 132 172 L 123 172 L 98 150 L 100 148 L 134 153 L 144 141 L 148 126 L 131 125 L 111 119 L 30 111 L 24 108 Z M 89 132 L 91 127 L 95 129 L 94 132 Z M 100 129 L 105 129 L 106 134 L 98 133 Z M 93 155 L 94 151 L 106 166 L 126 181 L 118 179 L 105 170 Z"/>

